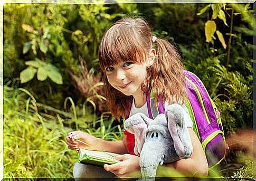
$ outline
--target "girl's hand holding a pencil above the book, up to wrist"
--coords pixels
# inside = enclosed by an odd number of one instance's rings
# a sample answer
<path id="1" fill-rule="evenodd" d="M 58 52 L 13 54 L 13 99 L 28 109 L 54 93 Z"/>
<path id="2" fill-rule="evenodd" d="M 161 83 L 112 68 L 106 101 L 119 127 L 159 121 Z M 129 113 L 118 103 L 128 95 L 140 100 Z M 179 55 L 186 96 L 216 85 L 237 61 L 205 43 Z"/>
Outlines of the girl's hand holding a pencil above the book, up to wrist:
<path id="1" fill-rule="evenodd" d="M 79 142 L 79 139 L 82 142 Z M 99 150 L 99 145 L 101 142 L 100 138 L 96 138 L 90 134 L 87 134 L 86 132 L 82 131 L 72 131 L 69 132 L 69 134 L 66 137 L 67 144 L 69 149 L 88 149 L 88 150 Z"/>

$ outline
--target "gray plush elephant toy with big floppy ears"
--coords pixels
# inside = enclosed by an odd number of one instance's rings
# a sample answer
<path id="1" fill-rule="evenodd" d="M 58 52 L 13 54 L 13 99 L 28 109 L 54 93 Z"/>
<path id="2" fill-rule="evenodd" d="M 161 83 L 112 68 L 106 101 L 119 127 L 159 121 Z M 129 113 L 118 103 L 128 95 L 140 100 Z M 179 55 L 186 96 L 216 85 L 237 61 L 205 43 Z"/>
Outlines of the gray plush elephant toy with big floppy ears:
<path id="1" fill-rule="evenodd" d="M 134 152 L 140 156 L 144 180 L 155 179 L 159 164 L 191 156 L 193 147 L 184 113 L 181 105 L 171 104 L 165 114 L 159 114 L 154 120 L 143 113 L 136 113 L 125 121 L 125 129 L 135 135 Z"/>

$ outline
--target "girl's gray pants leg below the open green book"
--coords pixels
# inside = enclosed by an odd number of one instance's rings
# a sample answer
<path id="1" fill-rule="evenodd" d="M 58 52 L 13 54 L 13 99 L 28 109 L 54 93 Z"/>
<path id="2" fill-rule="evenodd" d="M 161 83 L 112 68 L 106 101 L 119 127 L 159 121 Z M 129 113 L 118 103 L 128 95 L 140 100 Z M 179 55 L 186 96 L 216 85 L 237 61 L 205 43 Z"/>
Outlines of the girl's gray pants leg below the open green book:
<path id="1" fill-rule="evenodd" d="M 103 167 L 75 163 L 73 176 L 76 178 L 118 178 L 111 172 L 107 172 Z"/>

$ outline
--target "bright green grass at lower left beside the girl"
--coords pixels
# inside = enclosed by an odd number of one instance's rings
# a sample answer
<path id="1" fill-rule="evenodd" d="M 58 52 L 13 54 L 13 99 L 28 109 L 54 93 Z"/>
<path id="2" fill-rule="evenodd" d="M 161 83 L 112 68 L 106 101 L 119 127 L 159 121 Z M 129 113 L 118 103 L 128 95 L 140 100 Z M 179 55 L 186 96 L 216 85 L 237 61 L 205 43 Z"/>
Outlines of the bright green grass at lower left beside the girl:
<path id="1" fill-rule="evenodd" d="M 41 108 L 51 109 L 51 115 Z M 76 116 L 37 103 L 24 90 L 5 87 L 4 177 L 72 178 L 77 153 L 68 149 L 65 137 L 75 127 L 106 140 L 121 139 L 120 126 L 112 127 L 114 119 L 108 115 L 88 122 L 95 116 Z"/>

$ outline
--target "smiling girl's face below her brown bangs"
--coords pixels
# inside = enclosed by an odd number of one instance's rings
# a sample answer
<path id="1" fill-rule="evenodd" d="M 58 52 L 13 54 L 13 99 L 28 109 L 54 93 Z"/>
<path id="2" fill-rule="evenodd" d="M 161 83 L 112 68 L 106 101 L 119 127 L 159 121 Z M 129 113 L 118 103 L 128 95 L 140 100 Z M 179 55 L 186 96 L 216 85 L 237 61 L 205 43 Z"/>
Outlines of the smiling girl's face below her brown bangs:
<path id="1" fill-rule="evenodd" d="M 141 96 L 141 84 L 147 76 L 147 64 L 136 62 L 121 62 L 106 68 L 110 85 L 126 96 Z"/>

